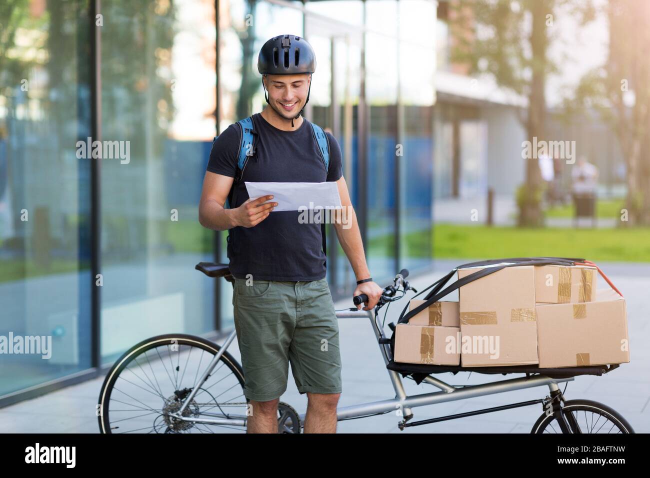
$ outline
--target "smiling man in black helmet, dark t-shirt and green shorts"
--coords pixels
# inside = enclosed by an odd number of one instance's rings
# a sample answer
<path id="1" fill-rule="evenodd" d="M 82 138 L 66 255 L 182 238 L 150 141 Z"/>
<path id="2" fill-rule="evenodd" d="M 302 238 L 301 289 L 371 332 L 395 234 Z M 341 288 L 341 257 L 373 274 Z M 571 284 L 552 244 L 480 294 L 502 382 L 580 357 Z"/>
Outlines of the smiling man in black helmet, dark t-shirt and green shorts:
<path id="1" fill-rule="evenodd" d="M 203 179 L 201 224 L 229 230 L 244 395 L 253 408 L 248 432 L 278 432 L 278 401 L 287 388 L 289 363 L 298 391 L 307 393 L 305 433 L 336 431 L 342 388 L 339 328 L 325 278 L 321 224 L 304 224 L 298 220 L 299 211 L 272 213 L 278 205 L 272 196 L 250 200 L 244 181 L 335 181 L 341 205 L 350 211 L 351 224 L 335 223 L 335 230 L 356 274 L 354 295 L 365 293 L 369 300 L 363 309 L 370 310 L 382 294 L 365 261 L 341 175 L 341 148 L 325 133 L 330 152 L 326 169 L 312 126 L 302 117 L 315 68 L 313 49 L 304 38 L 283 35 L 268 40 L 257 62 L 268 104 L 252 116 L 253 155 L 239 172 L 243 129 L 231 124 L 214 141 Z M 237 174 L 241 177 L 234 182 Z M 226 198 L 230 208 L 224 209 Z"/>

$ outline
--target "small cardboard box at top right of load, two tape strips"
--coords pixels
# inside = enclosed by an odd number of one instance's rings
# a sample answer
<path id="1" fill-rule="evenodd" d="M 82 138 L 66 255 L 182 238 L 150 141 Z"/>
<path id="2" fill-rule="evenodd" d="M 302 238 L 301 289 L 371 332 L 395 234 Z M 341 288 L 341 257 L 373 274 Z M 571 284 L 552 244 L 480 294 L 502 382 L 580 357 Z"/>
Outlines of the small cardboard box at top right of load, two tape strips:
<path id="1" fill-rule="evenodd" d="M 535 266 L 535 300 L 575 304 L 596 300 L 598 271 L 586 265 Z"/>

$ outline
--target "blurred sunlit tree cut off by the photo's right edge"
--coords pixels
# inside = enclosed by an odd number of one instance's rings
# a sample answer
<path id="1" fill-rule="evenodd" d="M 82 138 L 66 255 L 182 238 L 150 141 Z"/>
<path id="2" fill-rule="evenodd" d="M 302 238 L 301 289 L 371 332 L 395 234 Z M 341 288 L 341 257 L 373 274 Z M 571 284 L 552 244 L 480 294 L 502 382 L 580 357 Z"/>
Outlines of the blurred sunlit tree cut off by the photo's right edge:
<path id="1" fill-rule="evenodd" d="M 582 77 L 568 114 L 595 109 L 612 127 L 625 157 L 627 222 L 650 225 L 650 2 L 610 0 L 605 64 Z"/>

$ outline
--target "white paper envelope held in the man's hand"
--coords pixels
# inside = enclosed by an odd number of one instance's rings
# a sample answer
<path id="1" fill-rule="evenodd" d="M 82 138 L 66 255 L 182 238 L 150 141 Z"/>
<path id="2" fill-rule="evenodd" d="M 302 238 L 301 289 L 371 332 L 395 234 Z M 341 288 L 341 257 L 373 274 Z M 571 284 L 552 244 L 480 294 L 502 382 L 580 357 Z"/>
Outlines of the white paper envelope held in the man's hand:
<path id="1" fill-rule="evenodd" d="M 251 199 L 272 194 L 277 202 L 275 211 L 302 211 L 304 209 L 340 209 L 339 189 L 333 181 L 324 183 L 249 183 L 244 181 Z"/>

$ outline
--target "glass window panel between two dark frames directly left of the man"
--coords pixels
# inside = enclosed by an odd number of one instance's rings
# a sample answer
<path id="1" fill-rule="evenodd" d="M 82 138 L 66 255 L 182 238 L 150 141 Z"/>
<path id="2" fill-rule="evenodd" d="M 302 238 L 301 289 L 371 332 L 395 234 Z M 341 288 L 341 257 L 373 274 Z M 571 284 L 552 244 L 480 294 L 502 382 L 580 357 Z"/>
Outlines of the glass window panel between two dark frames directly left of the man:
<path id="1" fill-rule="evenodd" d="M 214 7 L 201 0 L 102 4 L 101 353 L 166 332 L 214 330 L 213 258 L 198 201 L 214 138 Z M 108 21 L 110 19 L 110 21 Z"/>

